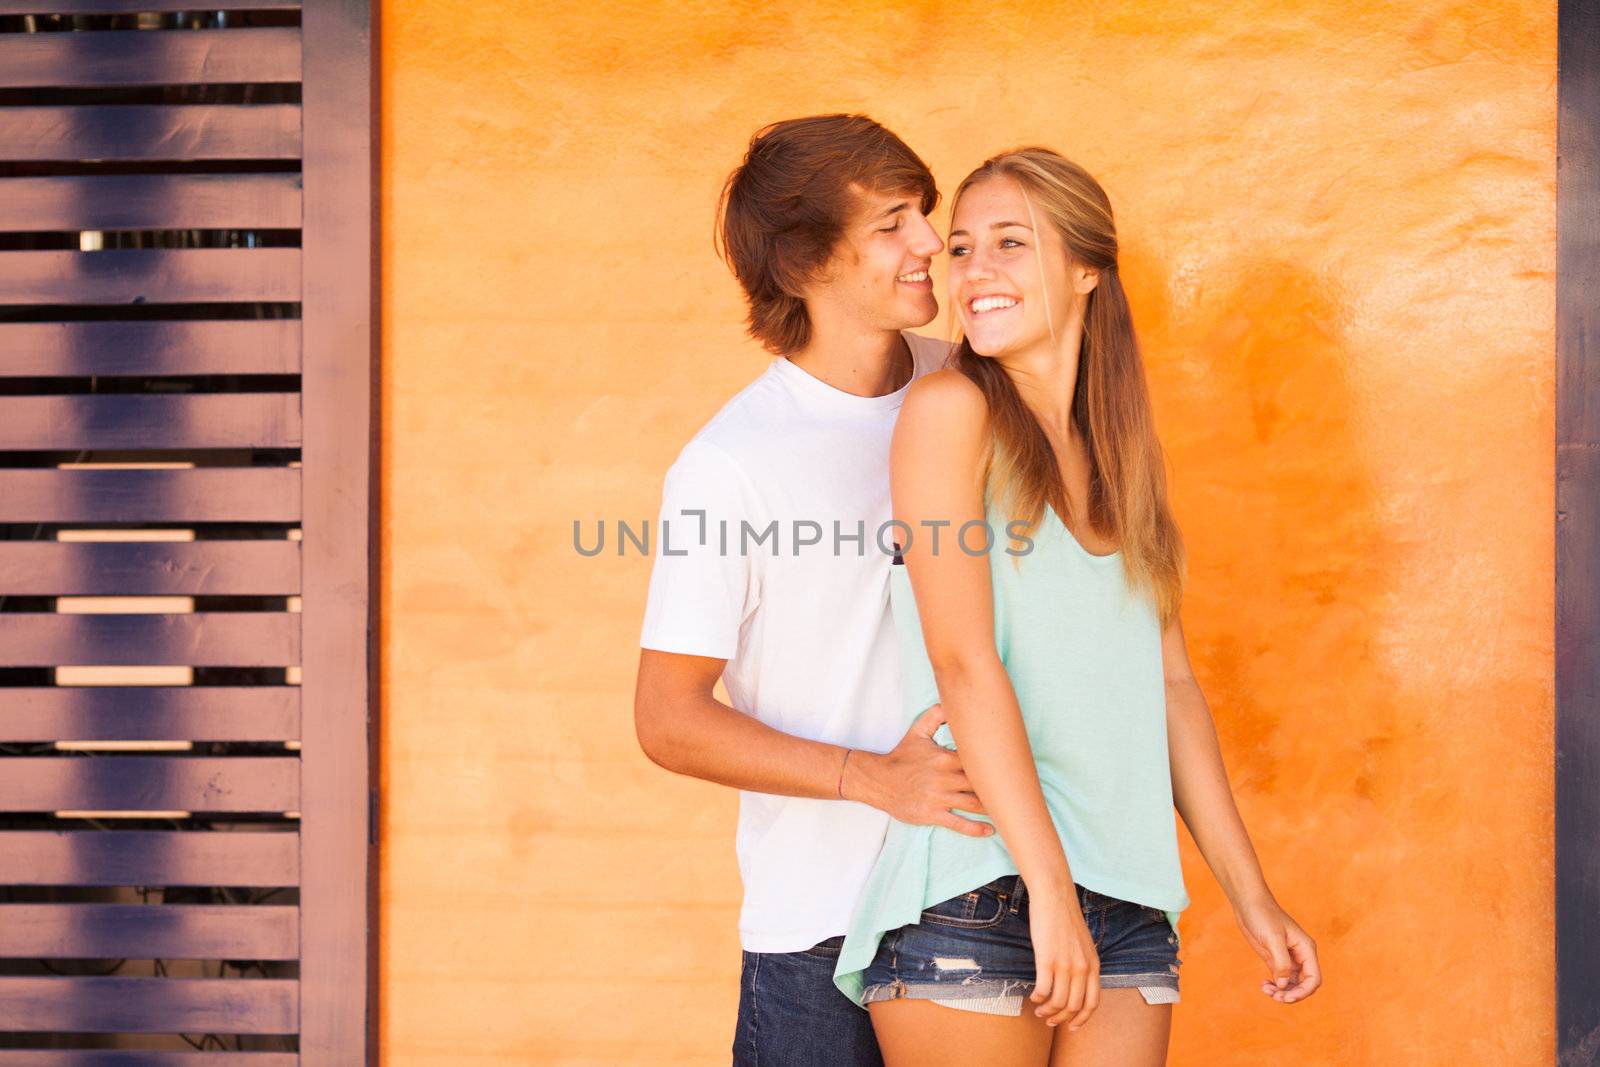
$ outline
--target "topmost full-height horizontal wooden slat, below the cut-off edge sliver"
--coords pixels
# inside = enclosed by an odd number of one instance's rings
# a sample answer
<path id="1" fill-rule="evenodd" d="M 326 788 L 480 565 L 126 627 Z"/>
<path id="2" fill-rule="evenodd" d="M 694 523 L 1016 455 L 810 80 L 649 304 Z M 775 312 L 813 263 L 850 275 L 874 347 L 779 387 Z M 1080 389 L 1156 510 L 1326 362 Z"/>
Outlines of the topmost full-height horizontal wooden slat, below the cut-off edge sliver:
<path id="1" fill-rule="evenodd" d="M 0 34 L 0 88 L 299 82 L 299 58 L 298 26 Z"/>

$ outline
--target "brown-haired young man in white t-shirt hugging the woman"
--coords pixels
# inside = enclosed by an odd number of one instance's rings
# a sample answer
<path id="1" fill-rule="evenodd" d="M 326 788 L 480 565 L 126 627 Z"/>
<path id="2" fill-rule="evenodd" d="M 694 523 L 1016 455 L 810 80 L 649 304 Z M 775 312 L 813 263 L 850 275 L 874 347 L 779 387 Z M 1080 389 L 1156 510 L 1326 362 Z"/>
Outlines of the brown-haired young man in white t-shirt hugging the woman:
<path id="1" fill-rule="evenodd" d="M 992 827 L 938 707 L 904 729 L 888 606 L 888 450 L 910 381 L 949 346 L 926 165 L 861 115 L 758 131 L 718 235 L 774 354 L 667 472 L 640 638 L 638 741 L 739 793 L 744 974 L 736 1067 L 878 1067 L 838 945 L 893 816 Z M 733 707 L 712 696 L 723 678 Z"/>

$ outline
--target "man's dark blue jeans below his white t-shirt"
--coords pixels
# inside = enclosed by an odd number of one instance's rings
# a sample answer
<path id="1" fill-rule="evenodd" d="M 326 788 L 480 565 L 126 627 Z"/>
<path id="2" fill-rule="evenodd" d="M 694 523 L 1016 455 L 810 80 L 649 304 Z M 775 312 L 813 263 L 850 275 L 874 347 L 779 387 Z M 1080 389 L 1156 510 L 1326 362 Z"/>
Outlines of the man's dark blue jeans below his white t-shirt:
<path id="1" fill-rule="evenodd" d="M 872 1016 L 834 985 L 843 944 L 744 953 L 733 1067 L 883 1067 Z"/>

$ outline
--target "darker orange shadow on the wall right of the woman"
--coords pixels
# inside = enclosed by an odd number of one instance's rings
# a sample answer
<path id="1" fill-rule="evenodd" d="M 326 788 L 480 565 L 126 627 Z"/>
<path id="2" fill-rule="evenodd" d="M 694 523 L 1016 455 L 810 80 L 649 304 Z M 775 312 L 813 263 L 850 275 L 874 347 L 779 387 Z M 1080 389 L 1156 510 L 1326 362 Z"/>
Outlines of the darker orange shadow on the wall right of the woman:
<path id="1" fill-rule="evenodd" d="M 1363 933 L 1357 909 L 1421 859 L 1397 827 L 1435 757 L 1378 654 L 1406 547 L 1386 534 L 1363 462 L 1342 298 L 1262 261 L 1208 270 L 1232 283 L 1182 293 L 1192 310 L 1178 312 L 1158 304 L 1173 296 L 1162 270 L 1125 262 L 1189 552 L 1190 657 L 1269 885 L 1322 945 L 1325 973 L 1350 973 L 1341 957 L 1384 955 L 1386 934 Z M 1197 902 L 1226 917 L 1198 849 L 1186 853 Z M 1213 929 L 1194 928 L 1197 952 L 1211 941 L 1230 960 L 1216 981 L 1253 957 L 1232 923 Z"/>

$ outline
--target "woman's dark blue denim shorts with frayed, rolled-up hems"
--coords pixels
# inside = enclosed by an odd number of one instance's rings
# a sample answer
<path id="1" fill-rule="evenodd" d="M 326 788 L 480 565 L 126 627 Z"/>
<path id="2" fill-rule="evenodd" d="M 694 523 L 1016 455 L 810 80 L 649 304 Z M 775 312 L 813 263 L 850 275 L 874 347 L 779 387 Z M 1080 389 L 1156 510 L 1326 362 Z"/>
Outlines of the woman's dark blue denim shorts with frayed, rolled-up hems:
<path id="1" fill-rule="evenodd" d="M 1099 953 L 1101 987 L 1134 987 L 1149 1003 L 1174 1003 L 1182 960 L 1166 913 L 1083 886 L 1077 891 Z M 912 997 L 1016 1016 L 1034 992 L 1035 974 L 1027 886 L 1021 875 L 1005 875 L 883 934 L 862 973 L 862 1003 Z"/>

